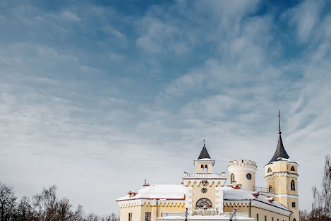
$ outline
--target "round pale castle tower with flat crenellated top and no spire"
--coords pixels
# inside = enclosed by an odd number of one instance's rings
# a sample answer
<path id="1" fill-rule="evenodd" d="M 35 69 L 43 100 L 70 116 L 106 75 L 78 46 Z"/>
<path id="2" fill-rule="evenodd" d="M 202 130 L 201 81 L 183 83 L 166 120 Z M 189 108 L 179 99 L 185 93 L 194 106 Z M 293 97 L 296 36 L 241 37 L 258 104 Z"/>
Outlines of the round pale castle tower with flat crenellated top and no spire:
<path id="1" fill-rule="evenodd" d="M 236 182 L 243 188 L 255 190 L 256 162 L 251 160 L 233 160 L 228 163 L 230 184 Z"/>

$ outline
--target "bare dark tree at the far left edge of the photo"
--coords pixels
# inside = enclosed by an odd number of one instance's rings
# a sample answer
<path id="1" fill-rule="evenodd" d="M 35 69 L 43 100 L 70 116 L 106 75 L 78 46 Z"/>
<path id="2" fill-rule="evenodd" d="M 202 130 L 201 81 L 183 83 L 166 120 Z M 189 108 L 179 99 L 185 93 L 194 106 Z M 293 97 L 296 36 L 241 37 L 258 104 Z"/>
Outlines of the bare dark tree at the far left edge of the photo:
<path id="1" fill-rule="evenodd" d="M 11 219 L 16 205 L 16 196 L 13 188 L 0 183 L 0 221 Z"/>

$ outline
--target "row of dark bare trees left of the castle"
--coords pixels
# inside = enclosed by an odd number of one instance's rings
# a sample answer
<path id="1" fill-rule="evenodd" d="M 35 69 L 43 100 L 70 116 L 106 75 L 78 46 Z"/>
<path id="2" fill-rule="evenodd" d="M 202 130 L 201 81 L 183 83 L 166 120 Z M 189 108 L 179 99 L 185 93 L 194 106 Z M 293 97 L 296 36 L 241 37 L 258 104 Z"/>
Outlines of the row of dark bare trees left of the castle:
<path id="1" fill-rule="evenodd" d="M 82 205 L 74 210 L 68 198 L 56 198 L 56 186 L 18 200 L 13 188 L 0 182 L 0 221 L 119 221 L 119 215 L 86 215 Z"/>

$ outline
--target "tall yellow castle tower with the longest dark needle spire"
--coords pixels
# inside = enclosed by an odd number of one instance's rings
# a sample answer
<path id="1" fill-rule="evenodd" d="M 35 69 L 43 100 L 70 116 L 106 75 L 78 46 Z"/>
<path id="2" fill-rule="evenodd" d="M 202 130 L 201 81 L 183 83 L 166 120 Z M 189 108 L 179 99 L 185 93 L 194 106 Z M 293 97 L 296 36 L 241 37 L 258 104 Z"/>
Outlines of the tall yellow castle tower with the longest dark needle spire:
<path id="1" fill-rule="evenodd" d="M 278 144 L 272 159 L 265 165 L 265 186 L 275 196 L 275 201 L 293 211 L 290 221 L 299 221 L 298 164 L 289 158 L 284 148 L 279 112 L 278 119 Z"/>

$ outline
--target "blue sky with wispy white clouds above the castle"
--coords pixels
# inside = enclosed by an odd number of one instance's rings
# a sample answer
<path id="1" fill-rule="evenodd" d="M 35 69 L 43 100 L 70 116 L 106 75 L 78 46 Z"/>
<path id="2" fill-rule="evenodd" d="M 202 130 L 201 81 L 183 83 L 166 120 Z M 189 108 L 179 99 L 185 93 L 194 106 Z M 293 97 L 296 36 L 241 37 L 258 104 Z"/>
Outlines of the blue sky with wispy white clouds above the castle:
<path id="1" fill-rule="evenodd" d="M 87 212 L 180 184 L 206 140 L 217 172 L 263 166 L 277 112 L 311 206 L 331 141 L 327 1 L 1 1 L 0 177 L 56 184 Z"/>

